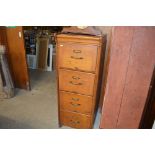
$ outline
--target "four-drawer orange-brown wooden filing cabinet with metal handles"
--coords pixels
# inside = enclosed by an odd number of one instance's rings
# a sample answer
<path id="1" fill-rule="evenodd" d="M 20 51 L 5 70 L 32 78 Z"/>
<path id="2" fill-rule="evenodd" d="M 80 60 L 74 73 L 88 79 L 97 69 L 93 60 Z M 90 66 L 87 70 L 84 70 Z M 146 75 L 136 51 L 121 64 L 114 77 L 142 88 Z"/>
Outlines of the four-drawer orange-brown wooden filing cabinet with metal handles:
<path id="1" fill-rule="evenodd" d="M 58 34 L 59 124 L 92 128 L 99 102 L 104 37 Z"/>

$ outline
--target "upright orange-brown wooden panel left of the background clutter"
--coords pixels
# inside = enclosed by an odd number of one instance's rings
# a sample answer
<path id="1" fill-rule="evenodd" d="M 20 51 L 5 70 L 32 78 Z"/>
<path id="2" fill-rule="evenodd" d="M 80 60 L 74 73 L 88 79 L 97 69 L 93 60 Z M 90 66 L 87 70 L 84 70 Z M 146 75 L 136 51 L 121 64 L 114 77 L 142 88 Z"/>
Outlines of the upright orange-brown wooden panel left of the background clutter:
<path id="1" fill-rule="evenodd" d="M 6 32 L 8 57 L 11 63 L 15 86 L 18 88 L 29 89 L 29 75 L 22 27 L 7 28 Z"/>

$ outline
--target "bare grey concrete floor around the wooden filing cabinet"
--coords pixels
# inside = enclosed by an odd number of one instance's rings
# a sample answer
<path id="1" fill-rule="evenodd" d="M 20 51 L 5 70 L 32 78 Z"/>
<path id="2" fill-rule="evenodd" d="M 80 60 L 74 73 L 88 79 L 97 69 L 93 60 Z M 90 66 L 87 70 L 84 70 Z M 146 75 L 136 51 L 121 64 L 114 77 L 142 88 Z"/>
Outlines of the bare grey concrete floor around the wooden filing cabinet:
<path id="1" fill-rule="evenodd" d="M 15 97 L 0 100 L 0 128 L 59 128 L 55 72 L 31 70 L 30 77 L 31 91 L 16 89 Z M 99 128 L 99 118 L 98 112 L 94 128 Z"/>

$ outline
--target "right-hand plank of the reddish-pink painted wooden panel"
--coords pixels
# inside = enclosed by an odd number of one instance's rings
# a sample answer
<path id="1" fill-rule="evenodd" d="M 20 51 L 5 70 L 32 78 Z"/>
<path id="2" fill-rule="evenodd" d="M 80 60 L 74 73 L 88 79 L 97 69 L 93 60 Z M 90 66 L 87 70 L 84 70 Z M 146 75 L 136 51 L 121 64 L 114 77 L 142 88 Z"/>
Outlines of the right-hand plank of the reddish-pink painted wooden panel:
<path id="1" fill-rule="evenodd" d="M 155 28 L 135 29 L 117 128 L 139 128 L 155 65 Z"/>

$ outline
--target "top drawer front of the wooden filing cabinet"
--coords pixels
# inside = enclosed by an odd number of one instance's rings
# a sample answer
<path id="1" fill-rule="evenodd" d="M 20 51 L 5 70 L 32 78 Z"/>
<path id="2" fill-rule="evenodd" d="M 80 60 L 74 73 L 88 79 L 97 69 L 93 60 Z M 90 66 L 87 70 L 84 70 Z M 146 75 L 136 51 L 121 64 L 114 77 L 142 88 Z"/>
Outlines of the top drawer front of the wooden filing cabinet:
<path id="1" fill-rule="evenodd" d="M 97 46 L 81 44 L 59 44 L 59 67 L 95 72 Z"/>

